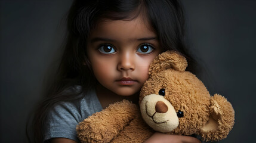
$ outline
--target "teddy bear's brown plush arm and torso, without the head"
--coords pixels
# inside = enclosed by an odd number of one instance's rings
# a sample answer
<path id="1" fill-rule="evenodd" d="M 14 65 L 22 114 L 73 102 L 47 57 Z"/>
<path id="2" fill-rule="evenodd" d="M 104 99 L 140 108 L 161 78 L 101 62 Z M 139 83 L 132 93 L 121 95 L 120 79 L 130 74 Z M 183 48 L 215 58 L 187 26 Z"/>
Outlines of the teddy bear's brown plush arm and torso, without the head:
<path id="1" fill-rule="evenodd" d="M 79 123 L 81 142 L 143 142 L 153 134 L 140 116 L 137 105 L 124 100 Z M 143 135 L 143 136 L 141 136 Z"/>

